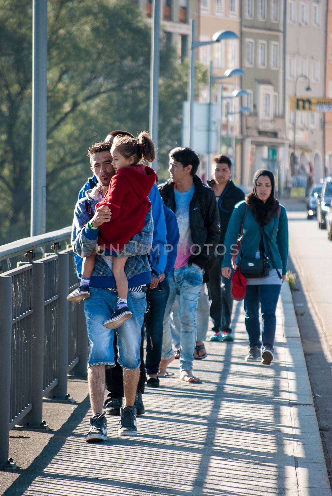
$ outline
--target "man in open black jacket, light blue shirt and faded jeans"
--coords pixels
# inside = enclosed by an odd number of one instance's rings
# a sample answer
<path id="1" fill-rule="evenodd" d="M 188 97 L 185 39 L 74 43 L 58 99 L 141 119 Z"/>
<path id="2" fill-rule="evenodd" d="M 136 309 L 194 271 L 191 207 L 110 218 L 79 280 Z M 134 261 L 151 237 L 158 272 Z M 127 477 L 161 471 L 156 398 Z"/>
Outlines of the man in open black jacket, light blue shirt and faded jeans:
<path id="1" fill-rule="evenodd" d="M 159 375 L 166 375 L 174 360 L 169 316 L 176 294 L 179 294 L 180 379 L 199 382 L 192 374 L 197 338 L 196 309 L 203 272 L 215 260 L 215 247 L 220 237 L 220 219 L 212 188 L 196 175 L 199 157 L 190 148 L 174 148 L 169 154 L 171 179 L 160 186 L 165 205 L 175 212 L 180 241 L 174 269 L 169 274 L 170 296 L 164 319 L 162 360 Z"/>

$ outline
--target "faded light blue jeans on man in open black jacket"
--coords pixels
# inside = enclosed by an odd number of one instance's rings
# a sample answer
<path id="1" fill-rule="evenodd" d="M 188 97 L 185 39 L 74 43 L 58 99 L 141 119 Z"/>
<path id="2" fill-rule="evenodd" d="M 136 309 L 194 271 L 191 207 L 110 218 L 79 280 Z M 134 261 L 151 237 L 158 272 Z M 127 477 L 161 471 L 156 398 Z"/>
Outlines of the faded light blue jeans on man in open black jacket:
<path id="1" fill-rule="evenodd" d="M 172 339 L 180 343 L 180 370 L 192 370 L 194 350 L 197 339 L 196 309 L 203 282 L 203 270 L 194 263 L 175 268 L 169 274 L 169 298 L 164 317 L 163 347 L 161 358 L 168 360 L 173 356 Z M 171 331 L 170 313 L 176 295 L 179 295 L 180 328 Z"/>

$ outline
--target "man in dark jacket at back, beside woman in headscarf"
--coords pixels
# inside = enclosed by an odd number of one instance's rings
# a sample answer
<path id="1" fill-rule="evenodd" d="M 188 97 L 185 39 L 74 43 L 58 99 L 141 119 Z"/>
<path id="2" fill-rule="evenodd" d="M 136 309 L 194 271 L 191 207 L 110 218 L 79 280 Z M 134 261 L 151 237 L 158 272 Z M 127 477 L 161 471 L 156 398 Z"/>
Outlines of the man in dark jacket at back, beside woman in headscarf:
<path id="1" fill-rule="evenodd" d="M 232 174 L 232 163 L 229 157 L 220 155 L 213 161 L 214 179 L 207 184 L 213 188 L 220 214 L 220 239 L 223 245 L 229 219 L 235 205 L 244 200 L 245 194 L 239 187 L 235 186 L 230 179 Z M 221 248 L 218 252 L 223 253 Z M 221 277 L 221 266 L 224 255 L 217 255 L 217 263 L 209 273 L 207 284 L 209 298 L 211 300 L 210 316 L 213 321 L 214 331 L 210 341 L 233 341 L 231 320 L 233 309 L 233 298 L 231 294 L 231 278 Z M 221 284 L 222 283 L 222 284 Z"/>

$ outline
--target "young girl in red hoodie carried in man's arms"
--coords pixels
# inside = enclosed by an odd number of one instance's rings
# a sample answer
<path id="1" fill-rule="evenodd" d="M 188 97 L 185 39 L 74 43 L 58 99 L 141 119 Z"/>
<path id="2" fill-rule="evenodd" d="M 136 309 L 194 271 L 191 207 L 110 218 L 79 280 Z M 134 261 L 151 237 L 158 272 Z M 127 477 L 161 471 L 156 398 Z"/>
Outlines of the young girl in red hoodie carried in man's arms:
<path id="1" fill-rule="evenodd" d="M 143 157 L 148 162 L 153 162 L 154 144 L 145 131 L 142 131 L 137 138 L 118 135 L 114 138 L 111 154 L 112 165 L 117 173 L 111 179 L 103 201 L 97 203 L 95 210 L 102 205 L 111 210 L 110 221 L 104 222 L 99 227 L 98 244 L 104 245 L 110 251 L 118 252 L 143 229 L 145 216 L 151 208 L 147 195 L 154 185 L 156 173 L 151 167 L 140 164 L 139 161 Z M 77 290 L 70 293 L 67 298 L 69 301 L 77 302 L 89 298 L 89 282 L 95 257 L 96 254 L 93 253 L 83 258 L 81 284 Z M 132 317 L 127 302 L 128 280 L 125 274 L 127 258 L 115 255 L 106 258 L 115 278 L 118 303 L 117 310 L 104 322 L 104 325 L 109 329 L 116 329 Z"/>

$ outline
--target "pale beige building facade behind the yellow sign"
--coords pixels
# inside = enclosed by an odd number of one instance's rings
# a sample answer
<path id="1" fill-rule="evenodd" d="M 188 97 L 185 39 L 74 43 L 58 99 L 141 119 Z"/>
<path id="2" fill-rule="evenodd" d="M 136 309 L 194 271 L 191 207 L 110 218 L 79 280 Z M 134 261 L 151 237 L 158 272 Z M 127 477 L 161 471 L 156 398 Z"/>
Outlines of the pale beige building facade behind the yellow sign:
<path id="1" fill-rule="evenodd" d="M 309 164 L 316 182 L 325 176 L 324 116 L 291 112 L 289 98 L 325 96 L 326 12 L 326 0 L 287 0 L 285 117 L 289 139 L 287 179 L 293 186 L 299 168 L 308 173 Z"/>

